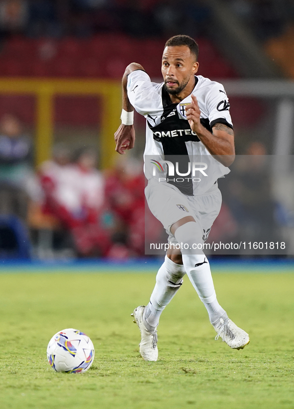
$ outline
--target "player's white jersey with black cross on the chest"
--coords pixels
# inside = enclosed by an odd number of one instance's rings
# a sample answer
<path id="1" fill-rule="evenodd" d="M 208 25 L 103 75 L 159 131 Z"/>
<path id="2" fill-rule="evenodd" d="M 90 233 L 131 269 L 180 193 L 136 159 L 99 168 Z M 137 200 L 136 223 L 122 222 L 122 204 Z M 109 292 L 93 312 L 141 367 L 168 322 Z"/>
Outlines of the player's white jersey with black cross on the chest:
<path id="1" fill-rule="evenodd" d="M 192 102 L 191 95 L 180 103 L 172 103 L 164 82 L 151 82 L 148 74 L 142 70 L 133 71 L 128 75 L 127 81 L 128 98 L 135 110 L 146 118 L 146 146 L 144 152 L 144 171 L 147 179 L 154 177 L 151 167 L 146 166 L 147 158 L 157 157 L 163 161 L 167 158 L 180 156 L 190 159 L 210 156 L 209 152 L 191 130 L 186 117 L 185 107 Z M 195 87 L 192 92 L 198 101 L 201 124 L 212 132 L 216 123 L 222 123 L 233 128 L 228 102 L 224 87 L 219 82 L 211 81 L 202 76 L 195 76 Z M 175 159 L 176 160 L 176 159 Z M 207 191 L 215 181 L 229 173 L 229 169 L 212 157 L 214 163 L 213 174 L 202 183 L 199 192 L 199 183 L 193 183 L 192 179 L 181 184 L 179 189 L 187 194 L 194 195 Z M 185 160 L 184 160 L 185 162 Z M 186 161 L 187 164 L 187 161 Z M 185 167 L 185 164 L 182 164 Z M 187 167 L 186 167 L 187 169 Z M 170 182 L 172 184 L 176 184 Z"/>

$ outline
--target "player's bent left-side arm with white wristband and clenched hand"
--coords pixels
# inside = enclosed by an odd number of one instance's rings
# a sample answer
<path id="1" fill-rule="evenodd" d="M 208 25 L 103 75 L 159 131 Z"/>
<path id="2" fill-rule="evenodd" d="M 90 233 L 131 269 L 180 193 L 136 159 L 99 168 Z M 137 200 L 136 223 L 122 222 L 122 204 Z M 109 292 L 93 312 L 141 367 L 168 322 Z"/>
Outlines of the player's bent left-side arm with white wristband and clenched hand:
<path id="1" fill-rule="evenodd" d="M 122 77 L 122 123 L 114 134 L 114 140 L 116 143 L 115 151 L 120 155 L 124 155 L 126 150 L 132 149 L 135 144 L 135 128 L 134 125 L 125 125 L 128 123 L 129 118 L 133 117 L 134 108 L 129 101 L 127 94 L 127 76 L 136 70 L 143 70 L 143 67 L 137 63 L 131 63 L 127 66 L 124 75 Z M 132 114 L 129 114 L 132 113 Z"/>

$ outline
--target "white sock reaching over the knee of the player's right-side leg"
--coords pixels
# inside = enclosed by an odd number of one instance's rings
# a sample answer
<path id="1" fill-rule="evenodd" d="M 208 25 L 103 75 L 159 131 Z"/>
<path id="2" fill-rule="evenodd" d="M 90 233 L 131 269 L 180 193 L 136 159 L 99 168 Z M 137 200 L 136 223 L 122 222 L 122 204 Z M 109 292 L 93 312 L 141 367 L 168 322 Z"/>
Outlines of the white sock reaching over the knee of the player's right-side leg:
<path id="1" fill-rule="evenodd" d="M 210 266 L 205 254 L 202 250 L 193 249 L 193 244 L 203 243 L 202 231 L 196 222 L 188 222 L 176 230 L 175 237 L 178 243 L 187 244 L 188 248 L 182 250 L 184 267 L 213 324 L 225 314 L 225 311 L 216 299 Z M 196 251 L 200 254 L 195 254 Z M 186 254 L 183 254 L 184 252 Z"/>

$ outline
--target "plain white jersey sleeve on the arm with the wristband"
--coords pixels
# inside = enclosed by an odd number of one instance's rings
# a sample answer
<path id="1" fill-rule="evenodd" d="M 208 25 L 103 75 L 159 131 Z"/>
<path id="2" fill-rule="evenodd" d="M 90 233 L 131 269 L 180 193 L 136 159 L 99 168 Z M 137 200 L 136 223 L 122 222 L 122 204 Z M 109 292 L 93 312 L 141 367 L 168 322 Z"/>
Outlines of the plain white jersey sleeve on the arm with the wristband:
<path id="1" fill-rule="evenodd" d="M 135 110 L 144 116 L 156 114 L 162 105 L 158 84 L 151 82 L 149 75 L 142 70 L 133 71 L 128 75 L 127 94 Z"/>

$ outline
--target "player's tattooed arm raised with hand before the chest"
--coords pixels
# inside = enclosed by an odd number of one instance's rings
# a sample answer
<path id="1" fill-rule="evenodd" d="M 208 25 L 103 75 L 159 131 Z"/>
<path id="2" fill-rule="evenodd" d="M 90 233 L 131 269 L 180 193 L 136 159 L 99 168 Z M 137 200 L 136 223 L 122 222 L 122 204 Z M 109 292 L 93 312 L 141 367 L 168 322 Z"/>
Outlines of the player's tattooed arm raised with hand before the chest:
<path id="1" fill-rule="evenodd" d="M 204 128 L 200 123 L 200 109 L 195 95 L 192 95 L 192 103 L 186 106 L 186 112 L 192 131 L 196 132 L 208 152 L 221 164 L 231 165 L 235 160 L 234 131 L 221 123 L 213 125 L 212 133 Z"/>

